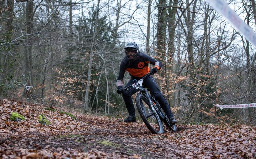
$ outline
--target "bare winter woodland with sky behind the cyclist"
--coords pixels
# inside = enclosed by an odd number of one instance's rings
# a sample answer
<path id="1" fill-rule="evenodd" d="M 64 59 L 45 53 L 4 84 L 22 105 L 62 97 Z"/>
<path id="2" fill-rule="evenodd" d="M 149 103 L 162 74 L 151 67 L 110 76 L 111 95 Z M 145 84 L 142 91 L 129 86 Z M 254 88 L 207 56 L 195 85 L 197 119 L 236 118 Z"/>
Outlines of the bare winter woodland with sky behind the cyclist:
<path id="1" fill-rule="evenodd" d="M 225 2 L 255 32 L 255 1 Z M 0 0 L 0 32 L 1 98 L 126 116 L 116 80 L 134 41 L 163 62 L 180 122 L 256 123 L 255 108 L 215 107 L 256 103 L 256 51 L 204 0 Z"/>

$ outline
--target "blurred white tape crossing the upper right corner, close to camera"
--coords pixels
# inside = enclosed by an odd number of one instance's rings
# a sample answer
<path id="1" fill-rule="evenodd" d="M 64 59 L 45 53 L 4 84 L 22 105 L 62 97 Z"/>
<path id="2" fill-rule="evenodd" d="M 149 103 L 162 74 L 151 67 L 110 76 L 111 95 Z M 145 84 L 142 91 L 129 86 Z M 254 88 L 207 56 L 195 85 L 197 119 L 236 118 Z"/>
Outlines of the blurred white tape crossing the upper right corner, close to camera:
<path id="1" fill-rule="evenodd" d="M 205 0 L 216 11 L 227 18 L 256 47 L 256 34 L 239 18 L 239 16 L 223 0 Z"/>

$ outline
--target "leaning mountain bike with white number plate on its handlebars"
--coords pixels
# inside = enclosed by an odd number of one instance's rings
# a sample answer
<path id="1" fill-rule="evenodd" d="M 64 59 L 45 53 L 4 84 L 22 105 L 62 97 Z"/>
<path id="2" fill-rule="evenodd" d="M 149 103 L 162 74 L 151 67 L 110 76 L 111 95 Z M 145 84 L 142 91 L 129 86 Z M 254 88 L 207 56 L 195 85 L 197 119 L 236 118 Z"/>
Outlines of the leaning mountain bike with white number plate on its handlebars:
<path id="1" fill-rule="evenodd" d="M 128 91 L 131 88 L 135 88 L 139 91 L 136 95 L 136 107 L 141 119 L 153 134 L 163 133 L 162 122 L 167 128 L 176 131 L 176 125 L 170 123 L 168 117 L 161 109 L 159 102 L 157 102 L 155 98 L 148 93 L 147 88 L 144 88 L 142 85 L 143 80 L 150 75 L 151 74 L 148 73 L 138 81 L 133 80 L 134 84 L 124 88 L 123 91 Z"/>

